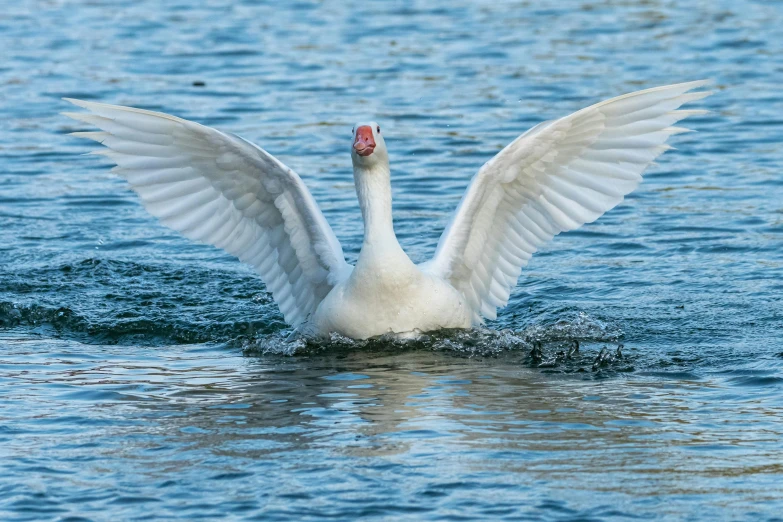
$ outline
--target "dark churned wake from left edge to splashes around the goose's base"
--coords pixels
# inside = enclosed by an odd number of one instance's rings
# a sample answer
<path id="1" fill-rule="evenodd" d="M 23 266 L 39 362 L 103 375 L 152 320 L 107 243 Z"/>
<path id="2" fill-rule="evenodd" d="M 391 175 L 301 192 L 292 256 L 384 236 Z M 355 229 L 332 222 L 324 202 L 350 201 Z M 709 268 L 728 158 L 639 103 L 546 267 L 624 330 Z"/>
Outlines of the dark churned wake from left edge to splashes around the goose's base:
<path id="1" fill-rule="evenodd" d="M 6 271 L 0 330 L 85 344 L 223 344 L 247 356 L 429 350 L 458 357 L 513 357 L 547 372 L 592 371 L 594 366 L 600 372 L 627 362 L 627 357 L 612 355 L 616 349 L 609 346 L 623 337 L 619 327 L 568 310 L 539 314 L 524 329 L 504 328 L 508 323 L 497 321 L 415 339 L 300 338 L 284 324 L 252 273 L 144 261 L 90 258 Z M 574 342 L 584 349 L 575 352 Z M 592 346 L 596 343 L 608 343 L 600 360 L 603 346 Z"/>

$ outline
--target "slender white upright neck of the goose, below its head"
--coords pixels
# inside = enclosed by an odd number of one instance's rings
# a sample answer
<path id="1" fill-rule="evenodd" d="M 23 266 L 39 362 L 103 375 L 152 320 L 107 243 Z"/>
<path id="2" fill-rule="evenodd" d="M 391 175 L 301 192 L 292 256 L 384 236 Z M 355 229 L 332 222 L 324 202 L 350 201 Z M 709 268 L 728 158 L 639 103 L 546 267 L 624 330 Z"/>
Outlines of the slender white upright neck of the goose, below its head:
<path id="1" fill-rule="evenodd" d="M 407 256 L 402 251 L 394 234 L 391 210 L 391 175 L 389 165 L 379 162 L 371 167 L 355 166 L 353 170 L 356 195 L 364 219 L 364 243 L 359 255 L 368 258 L 386 258 L 393 261 L 398 256 Z"/>

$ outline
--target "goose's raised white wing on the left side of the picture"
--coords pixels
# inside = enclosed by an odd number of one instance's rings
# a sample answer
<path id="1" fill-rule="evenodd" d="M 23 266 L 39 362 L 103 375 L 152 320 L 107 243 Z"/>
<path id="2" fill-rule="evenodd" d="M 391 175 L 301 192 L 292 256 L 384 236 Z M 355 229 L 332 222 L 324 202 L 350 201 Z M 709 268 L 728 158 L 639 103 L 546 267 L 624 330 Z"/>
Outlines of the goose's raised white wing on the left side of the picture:
<path id="1" fill-rule="evenodd" d="M 301 178 L 252 143 L 192 121 L 67 99 L 65 113 L 100 128 L 102 143 L 144 207 L 168 227 L 252 265 L 286 322 L 305 321 L 350 273 L 334 232 Z"/>

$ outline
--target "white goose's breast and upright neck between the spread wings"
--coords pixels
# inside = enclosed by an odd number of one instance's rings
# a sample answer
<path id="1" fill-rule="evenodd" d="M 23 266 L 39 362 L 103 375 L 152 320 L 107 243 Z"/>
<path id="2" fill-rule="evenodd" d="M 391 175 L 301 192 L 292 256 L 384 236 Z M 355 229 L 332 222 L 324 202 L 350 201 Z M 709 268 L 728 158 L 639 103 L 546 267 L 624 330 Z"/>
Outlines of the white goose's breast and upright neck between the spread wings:
<path id="1" fill-rule="evenodd" d="M 310 330 L 364 339 L 385 333 L 415 335 L 417 331 L 468 328 L 471 314 L 464 297 L 442 277 L 414 264 L 397 242 L 381 139 L 377 138 L 379 147 L 372 160 L 357 159 L 353 153 L 364 242 L 356 267 L 321 302 Z"/>

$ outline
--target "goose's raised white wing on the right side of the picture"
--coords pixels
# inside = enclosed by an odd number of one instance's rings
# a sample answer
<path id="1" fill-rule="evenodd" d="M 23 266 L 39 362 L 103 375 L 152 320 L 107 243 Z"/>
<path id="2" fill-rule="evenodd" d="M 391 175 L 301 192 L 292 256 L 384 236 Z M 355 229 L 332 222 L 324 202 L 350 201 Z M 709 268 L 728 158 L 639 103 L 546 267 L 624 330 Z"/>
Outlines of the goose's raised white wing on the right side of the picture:
<path id="1" fill-rule="evenodd" d="M 676 110 L 708 96 L 706 81 L 647 89 L 542 123 L 488 161 L 473 178 L 423 268 L 465 296 L 475 324 L 494 319 L 533 253 L 560 232 L 595 221 L 642 181 L 670 148 Z"/>

